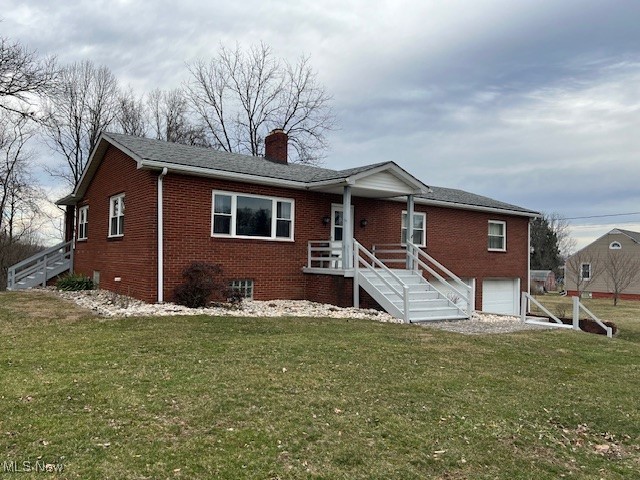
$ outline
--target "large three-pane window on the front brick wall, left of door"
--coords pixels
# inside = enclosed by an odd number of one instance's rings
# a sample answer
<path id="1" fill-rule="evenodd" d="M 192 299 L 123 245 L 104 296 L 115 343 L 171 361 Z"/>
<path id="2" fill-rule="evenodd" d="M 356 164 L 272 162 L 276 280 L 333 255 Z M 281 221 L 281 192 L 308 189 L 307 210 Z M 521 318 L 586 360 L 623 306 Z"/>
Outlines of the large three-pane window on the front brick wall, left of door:
<path id="1" fill-rule="evenodd" d="M 293 240 L 290 199 L 213 192 L 213 236 Z"/>

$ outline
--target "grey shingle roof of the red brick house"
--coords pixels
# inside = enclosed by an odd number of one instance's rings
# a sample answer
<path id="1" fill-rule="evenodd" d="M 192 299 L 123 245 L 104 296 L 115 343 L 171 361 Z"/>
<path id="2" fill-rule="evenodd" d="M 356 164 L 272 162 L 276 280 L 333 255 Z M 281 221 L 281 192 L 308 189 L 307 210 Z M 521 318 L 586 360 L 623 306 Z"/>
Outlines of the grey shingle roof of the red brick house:
<path id="1" fill-rule="evenodd" d="M 105 133 L 115 144 L 118 144 L 139 158 L 147 161 L 182 165 L 223 172 L 239 173 L 278 180 L 302 183 L 315 183 L 339 180 L 361 172 L 372 170 L 391 162 L 382 162 L 346 170 L 331 170 L 300 164 L 282 164 L 264 158 L 229 153 L 212 148 L 194 147 L 162 140 L 133 137 L 120 133 Z M 511 212 L 535 215 L 537 212 L 500 202 L 489 197 L 444 187 L 430 187 L 430 192 L 420 195 L 425 200 L 443 202 L 452 206 L 475 206 L 506 210 Z"/>

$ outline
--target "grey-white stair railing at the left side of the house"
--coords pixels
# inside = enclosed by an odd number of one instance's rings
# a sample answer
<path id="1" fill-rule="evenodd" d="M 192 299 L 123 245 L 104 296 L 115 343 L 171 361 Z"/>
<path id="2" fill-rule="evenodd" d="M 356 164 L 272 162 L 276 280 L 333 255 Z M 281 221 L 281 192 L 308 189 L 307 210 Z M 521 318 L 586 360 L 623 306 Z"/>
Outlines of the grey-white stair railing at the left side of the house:
<path id="1" fill-rule="evenodd" d="M 60 243 L 9 267 L 7 290 L 46 286 L 47 280 L 71 269 L 72 265 L 73 242 Z"/>

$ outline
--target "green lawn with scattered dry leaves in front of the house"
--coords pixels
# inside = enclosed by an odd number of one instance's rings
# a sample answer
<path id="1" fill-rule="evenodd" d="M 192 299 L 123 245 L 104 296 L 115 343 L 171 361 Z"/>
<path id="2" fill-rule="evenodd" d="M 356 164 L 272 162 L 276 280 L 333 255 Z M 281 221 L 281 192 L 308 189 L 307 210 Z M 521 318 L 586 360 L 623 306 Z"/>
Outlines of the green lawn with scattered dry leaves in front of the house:
<path id="1" fill-rule="evenodd" d="M 359 320 L 104 320 L 6 293 L 2 460 L 64 465 L 46 478 L 633 478 L 640 320 L 631 307 L 615 316 L 627 308 L 604 318 L 621 329 L 610 340 Z"/>

